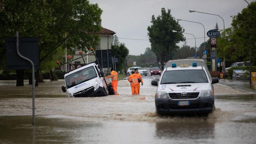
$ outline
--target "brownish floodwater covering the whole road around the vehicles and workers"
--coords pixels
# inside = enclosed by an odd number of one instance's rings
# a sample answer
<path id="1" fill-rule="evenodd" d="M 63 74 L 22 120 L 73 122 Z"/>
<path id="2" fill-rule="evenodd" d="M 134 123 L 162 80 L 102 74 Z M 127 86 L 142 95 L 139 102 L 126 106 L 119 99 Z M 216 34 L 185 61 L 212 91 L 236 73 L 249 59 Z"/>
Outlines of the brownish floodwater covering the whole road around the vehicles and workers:
<path id="1" fill-rule="evenodd" d="M 118 96 L 95 98 L 68 98 L 63 80 L 46 80 L 35 88 L 35 126 L 32 86 L 0 81 L 0 143 L 256 142 L 255 90 L 246 93 L 249 89 L 220 81 L 214 84 L 216 110 L 208 116 L 158 116 L 151 80 L 159 76 L 142 78 L 139 96 L 132 96 L 127 80 L 121 80 Z"/>

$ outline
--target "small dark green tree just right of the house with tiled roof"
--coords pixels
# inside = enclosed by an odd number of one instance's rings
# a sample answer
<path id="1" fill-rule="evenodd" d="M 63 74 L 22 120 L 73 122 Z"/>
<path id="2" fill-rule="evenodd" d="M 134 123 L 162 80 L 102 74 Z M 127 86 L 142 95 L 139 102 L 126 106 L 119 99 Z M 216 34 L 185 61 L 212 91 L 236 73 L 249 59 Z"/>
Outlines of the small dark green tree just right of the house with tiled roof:
<path id="1" fill-rule="evenodd" d="M 128 48 L 125 46 L 124 43 L 121 43 L 120 45 L 112 45 L 111 53 L 112 56 L 118 58 L 118 62 L 116 63 L 116 71 L 120 71 L 121 73 L 123 73 L 125 67 L 125 58 L 129 54 Z"/>

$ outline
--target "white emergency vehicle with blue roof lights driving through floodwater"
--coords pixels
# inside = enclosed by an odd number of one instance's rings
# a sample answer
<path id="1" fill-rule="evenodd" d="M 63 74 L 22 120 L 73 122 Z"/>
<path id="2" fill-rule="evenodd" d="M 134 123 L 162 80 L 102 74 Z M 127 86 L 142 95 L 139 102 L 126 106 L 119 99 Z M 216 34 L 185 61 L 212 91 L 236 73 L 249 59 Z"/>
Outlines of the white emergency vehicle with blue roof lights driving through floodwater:
<path id="1" fill-rule="evenodd" d="M 214 83 L 201 59 L 170 60 L 159 79 L 155 95 L 158 114 L 204 113 L 214 111 Z"/>

